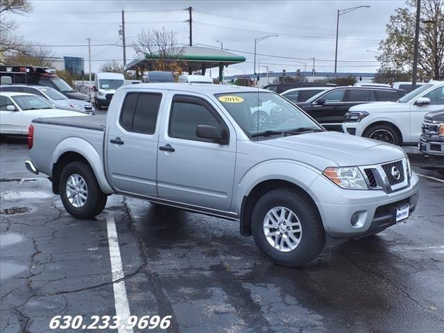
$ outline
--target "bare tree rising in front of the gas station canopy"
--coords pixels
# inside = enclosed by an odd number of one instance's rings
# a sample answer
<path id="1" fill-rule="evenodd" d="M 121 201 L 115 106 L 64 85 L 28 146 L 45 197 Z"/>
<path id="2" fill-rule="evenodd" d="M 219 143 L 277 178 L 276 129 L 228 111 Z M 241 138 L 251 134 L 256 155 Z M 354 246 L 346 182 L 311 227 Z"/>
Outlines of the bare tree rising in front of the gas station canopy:
<path id="1" fill-rule="evenodd" d="M 153 59 L 153 68 L 158 71 L 178 71 L 178 57 L 183 53 L 183 46 L 176 42 L 176 33 L 162 30 L 142 30 L 137 35 L 137 44 L 133 49 L 137 56 Z"/>

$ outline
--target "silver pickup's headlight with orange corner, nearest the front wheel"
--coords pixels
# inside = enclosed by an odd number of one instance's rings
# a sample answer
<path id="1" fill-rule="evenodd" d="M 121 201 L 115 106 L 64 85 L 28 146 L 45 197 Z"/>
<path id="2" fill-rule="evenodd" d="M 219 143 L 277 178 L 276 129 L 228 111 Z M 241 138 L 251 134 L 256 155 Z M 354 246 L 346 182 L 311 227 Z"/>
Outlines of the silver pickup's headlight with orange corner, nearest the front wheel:
<path id="1" fill-rule="evenodd" d="M 357 167 L 330 167 L 323 175 L 343 189 L 368 189 L 367 182 Z"/>

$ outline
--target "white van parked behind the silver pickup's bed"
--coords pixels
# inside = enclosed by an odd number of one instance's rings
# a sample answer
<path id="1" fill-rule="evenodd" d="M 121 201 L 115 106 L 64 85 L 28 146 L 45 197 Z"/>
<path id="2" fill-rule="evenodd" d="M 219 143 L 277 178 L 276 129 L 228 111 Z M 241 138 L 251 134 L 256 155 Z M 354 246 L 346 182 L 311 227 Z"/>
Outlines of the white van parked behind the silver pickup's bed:
<path id="1" fill-rule="evenodd" d="M 125 76 L 121 73 L 96 73 L 92 86 L 92 99 L 97 110 L 110 105 L 114 92 L 125 85 Z"/>

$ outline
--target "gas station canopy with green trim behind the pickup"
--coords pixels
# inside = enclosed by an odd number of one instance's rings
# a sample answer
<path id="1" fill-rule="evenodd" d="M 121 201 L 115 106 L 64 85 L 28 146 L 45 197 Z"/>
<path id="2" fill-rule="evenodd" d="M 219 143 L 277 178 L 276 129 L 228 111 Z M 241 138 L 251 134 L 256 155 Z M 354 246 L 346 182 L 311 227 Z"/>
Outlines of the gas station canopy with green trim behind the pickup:
<path id="1" fill-rule="evenodd" d="M 145 59 L 136 59 L 126 66 L 126 70 L 135 70 L 137 67 L 142 69 L 153 68 L 154 62 L 159 60 L 157 55 L 148 56 Z M 182 68 L 182 71 L 188 71 L 191 74 L 193 71 L 202 71 L 205 75 L 205 70 L 212 67 L 219 67 L 219 80 L 222 80 L 222 71 L 224 66 L 239 64 L 246 59 L 244 56 L 237 56 L 237 54 L 224 51 L 221 49 L 212 49 L 202 46 L 185 46 L 182 52 L 175 56 L 171 61 L 175 61 Z"/>

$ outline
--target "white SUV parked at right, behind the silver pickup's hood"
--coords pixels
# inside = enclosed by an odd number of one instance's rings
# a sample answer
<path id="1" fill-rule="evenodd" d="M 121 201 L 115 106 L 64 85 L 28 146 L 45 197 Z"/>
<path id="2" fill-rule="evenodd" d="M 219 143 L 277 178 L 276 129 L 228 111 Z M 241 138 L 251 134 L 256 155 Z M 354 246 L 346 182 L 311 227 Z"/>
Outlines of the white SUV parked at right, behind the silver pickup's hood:
<path id="1" fill-rule="evenodd" d="M 370 137 L 390 144 L 416 144 L 426 113 L 444 108 L 444 81 L 430 81 L 398 101 L 370 103 L 350 108 L 344 133 Z"/>

